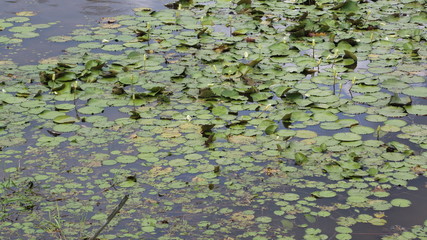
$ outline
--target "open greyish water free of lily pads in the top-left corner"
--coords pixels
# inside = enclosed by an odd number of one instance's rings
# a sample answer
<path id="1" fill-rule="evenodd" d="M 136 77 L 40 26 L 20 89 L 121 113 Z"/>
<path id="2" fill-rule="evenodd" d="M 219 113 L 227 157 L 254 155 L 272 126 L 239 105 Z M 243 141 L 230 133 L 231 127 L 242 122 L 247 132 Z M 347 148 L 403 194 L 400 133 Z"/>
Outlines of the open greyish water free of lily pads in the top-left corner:
<path id="1" fill-rule="evenodd" d="M 33 11 L 33 24 L 56 23 L 38 31 L 40 37 L 26 39 L 10 49 L 0 44 L 0 60 L 33 64 L 41 59 L 60 55 L 69 47 L 47 41 L 51 36 L 64 35 L 82 25 L 96 26 L 103 17 L 132 14 L 132 9 L 146 7 L 163 9 L 169 0 L 0 0 L 0 18 L 15 17 L 22 11 Z M 7 34 L 0 32 L 0 36 Z"/>

